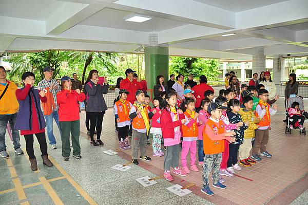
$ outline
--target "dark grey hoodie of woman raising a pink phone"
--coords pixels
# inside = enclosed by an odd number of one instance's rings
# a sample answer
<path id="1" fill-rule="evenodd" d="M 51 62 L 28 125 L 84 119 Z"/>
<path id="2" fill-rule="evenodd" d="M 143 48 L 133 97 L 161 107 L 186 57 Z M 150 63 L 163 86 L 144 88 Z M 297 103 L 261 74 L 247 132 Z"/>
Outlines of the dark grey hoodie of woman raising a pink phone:
<path id="1" fill-rule="evenodd" d="M 107 110 L 107 105 L 102 94 L 107 94 L 109 84 L 95 85 L 92 81 L 89 83 L 85 85 L 85 89 L 88 95 L 87 111 L 102 113 L 103 111 Z"/>

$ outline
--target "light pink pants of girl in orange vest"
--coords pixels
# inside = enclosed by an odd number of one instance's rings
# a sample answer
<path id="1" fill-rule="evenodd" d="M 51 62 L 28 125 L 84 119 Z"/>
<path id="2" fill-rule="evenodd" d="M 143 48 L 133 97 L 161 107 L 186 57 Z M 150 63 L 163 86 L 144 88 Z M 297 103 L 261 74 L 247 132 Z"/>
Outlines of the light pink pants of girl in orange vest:
<path id="1" fill-rule="evenodd" d="M 186 157 L 190 150 L 190 166 L 196 163 L 197 141 L 182 141 L 181 161 L 182 166 L 187 166 Z"/>

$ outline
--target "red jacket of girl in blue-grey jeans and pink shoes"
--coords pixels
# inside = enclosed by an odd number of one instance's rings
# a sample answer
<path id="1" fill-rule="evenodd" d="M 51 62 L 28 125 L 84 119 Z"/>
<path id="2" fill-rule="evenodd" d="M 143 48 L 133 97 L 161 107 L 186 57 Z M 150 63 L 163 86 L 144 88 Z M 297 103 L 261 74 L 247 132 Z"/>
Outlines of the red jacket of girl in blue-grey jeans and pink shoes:
<path id="1" fill-rule="evenodd" d="M 180 118 L 178 121 L 172 122 L 171 115 L 166 109 L 163 109 L 162 111 L 160 122 L 163 138 L 175 138 L 175 128 L 182 124 Z"/>

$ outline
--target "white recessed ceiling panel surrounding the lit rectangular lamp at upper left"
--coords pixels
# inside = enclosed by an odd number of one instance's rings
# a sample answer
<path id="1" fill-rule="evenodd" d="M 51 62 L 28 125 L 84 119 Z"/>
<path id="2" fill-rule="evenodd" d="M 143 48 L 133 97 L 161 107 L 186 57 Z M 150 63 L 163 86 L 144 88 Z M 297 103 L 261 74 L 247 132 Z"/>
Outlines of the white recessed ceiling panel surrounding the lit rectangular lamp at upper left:
<path id="1" fill-rule="evenodd" d="M 186 25 L 186 23 L 182 23 L 179 21 L 172 21 L 155 16 L 152 16 L 151 20 L 142 23 L 125 21 L 124 18 L 130 16 L 131 14 L 133 14 L 133 12 L 105 8 L 95 13 L 94 15 L 88 17 L 80 24 L 89 26 L 101 26 L 108 28 L 144 31 L 144 32 L 162 31 Z"/>

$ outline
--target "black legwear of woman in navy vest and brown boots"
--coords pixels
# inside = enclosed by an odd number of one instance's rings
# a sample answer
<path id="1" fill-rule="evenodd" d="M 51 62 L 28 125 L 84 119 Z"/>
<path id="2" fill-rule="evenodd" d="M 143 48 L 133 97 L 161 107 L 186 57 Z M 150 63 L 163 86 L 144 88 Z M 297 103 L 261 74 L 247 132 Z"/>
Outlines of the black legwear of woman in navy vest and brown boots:
<path id="1" fill-rule="evenodd" d="M 44 133 L 37 133 L 35 134 L 38 143 L 40 143 L 40 149 L 42 152 L 42 155 L 47 155 L 47 143 L 46 143 L 46 136 L 45 132 Z M 34 156 L 34 150 L 33 150 L 33 134 L 32 135 L 25 135 L 25 140 L 26 140 L 26 151 L 27 154 L 29 155 L 30 159 L 35 158 Z"/>

